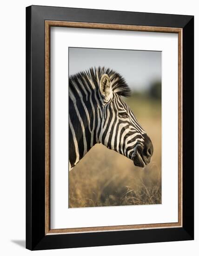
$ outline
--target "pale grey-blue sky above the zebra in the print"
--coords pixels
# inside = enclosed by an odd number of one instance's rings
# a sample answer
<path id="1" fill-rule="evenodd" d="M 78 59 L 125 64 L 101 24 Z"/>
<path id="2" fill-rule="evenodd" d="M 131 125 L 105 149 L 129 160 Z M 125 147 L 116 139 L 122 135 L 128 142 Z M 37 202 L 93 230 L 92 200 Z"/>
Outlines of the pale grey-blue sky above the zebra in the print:
<path id="1" fill-rule="evenodd" d="M 110 67 L 121 74 L 133 90 L 143 90 L 161 81 L 161 52 L 69 48 L 69 74 L 90 67 Z"/>

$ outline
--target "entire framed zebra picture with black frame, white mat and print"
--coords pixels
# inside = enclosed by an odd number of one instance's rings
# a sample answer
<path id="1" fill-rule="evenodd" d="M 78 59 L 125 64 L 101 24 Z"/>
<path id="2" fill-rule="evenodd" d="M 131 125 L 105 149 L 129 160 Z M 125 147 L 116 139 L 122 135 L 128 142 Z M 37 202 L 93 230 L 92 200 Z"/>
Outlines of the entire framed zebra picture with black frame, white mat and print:
<path id="1" fill-rule="evenodd" d="M 192 240 L 193 16 L 26 12 L 27 249 Z"/>

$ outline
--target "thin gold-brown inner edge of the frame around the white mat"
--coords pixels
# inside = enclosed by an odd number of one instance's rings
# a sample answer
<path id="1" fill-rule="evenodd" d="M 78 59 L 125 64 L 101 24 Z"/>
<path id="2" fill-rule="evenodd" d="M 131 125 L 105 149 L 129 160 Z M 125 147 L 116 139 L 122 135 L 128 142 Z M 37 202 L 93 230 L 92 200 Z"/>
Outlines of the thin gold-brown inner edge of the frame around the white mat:
<path id="1" fill-rule="evenodd" d="M 178 222 L 66 229 L 50 228 L 50 27 L 178 34 Z M 169 227 L 182 227 L 182 28 L 45 20 L 45 235 Z"/>

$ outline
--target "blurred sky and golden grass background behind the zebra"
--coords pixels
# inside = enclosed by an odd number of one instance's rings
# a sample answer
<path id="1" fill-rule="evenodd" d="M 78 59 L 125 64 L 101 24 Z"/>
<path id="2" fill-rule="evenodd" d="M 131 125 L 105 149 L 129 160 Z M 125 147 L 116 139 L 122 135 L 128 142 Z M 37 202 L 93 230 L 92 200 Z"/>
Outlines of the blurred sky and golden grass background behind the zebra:
<path id="1" fill-rule="evenodd" d="M 161 203 L 161 52 L 69 48 L 69 74 L 105 66 L 121 74 L 132 90 L 124 98 L 153 142 L 145 168 L 95 145 L 69 172 L 69 208 Z"/>

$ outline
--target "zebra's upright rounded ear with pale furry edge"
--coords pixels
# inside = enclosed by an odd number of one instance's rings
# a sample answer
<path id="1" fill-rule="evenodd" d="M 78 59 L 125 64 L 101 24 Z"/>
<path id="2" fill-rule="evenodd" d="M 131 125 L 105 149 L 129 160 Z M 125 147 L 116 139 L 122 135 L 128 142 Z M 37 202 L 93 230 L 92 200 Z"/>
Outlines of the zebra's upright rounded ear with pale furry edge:
<path id="1" fill-rule="evenodd" d="M 111 79 L 107 74 L 103 74 L 99 82 L 99 90 L 105 101 L 109 101 L 113 96 Z"/>

